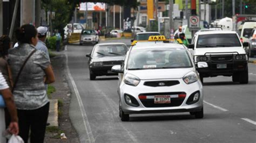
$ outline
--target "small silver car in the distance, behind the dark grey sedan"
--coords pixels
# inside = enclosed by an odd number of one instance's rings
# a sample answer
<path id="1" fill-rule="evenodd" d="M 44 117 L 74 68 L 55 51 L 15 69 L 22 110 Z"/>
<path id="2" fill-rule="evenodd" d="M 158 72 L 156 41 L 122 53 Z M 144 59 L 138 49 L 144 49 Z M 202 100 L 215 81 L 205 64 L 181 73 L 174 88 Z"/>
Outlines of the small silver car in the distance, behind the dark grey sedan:
<path id="1" fill-rule="evenodd" d="M 80 45 L 83 44 L 98 44 L 99 35 L 95 30 L 83 30 L 80 34 Z"/>

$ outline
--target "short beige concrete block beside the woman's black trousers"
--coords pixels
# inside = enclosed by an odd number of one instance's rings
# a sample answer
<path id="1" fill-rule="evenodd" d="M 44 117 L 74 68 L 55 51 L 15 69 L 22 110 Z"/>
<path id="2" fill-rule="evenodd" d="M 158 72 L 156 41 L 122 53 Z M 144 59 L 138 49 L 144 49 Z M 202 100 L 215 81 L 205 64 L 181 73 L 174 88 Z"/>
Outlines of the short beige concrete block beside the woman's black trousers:
<path id="1" fill-rule="evenodd" d="M 50 109 L 47 123 L 49 123 L 50 127 L 55 126 L 58 127 L 58 100 L 50 99 Z"/>

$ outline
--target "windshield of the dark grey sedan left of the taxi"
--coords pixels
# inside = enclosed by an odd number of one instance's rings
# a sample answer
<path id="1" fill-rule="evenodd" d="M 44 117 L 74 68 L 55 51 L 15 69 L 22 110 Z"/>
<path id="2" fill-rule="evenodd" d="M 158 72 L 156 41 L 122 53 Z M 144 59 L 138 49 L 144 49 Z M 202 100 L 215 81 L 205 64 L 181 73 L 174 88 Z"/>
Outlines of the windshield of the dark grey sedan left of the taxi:
<path id="1" fill-rule="evenodd" d="M 128 49 L 125 45 L 102 45 L 95 47 L 92 56 L 120 56 L 125 55 L 127 50 Z"/>

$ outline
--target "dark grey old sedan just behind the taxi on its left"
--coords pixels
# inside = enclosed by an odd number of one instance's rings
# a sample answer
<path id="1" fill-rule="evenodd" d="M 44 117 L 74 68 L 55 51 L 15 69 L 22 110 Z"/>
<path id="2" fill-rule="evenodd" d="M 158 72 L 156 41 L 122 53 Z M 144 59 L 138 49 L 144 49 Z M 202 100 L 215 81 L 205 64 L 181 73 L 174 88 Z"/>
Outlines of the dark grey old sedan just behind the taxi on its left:
<path id="1" fill-rule="evenodd" d="M 124 43 L 109 42 L 95 45 L 91 53 L 86 55 L 89 58 L 90 80 L 95 80 L 96 76 L 117 75 L 111 68 L 114 65 L 122 65 L 127 51 Z"/>

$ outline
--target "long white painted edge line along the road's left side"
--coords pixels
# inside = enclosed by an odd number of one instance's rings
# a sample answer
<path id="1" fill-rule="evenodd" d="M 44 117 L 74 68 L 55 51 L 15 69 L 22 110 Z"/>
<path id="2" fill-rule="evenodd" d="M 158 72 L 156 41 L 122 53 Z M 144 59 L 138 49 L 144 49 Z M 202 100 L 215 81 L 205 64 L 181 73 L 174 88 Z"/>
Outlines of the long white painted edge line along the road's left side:
<path id="1" fill-rule="evenodd" d="M 70 81 L 71 81 L 71 83 L 73 85 L 73 89 L 75 90 L 75 95 L 77 97 L 77 101 L 78 101 L 78 104 L 79 104 L 79 107 L 80 107 L 80 111 L 82 113 L 83 123 L 84 123 L 84 127 L 85 127 L 85 132 L 87 134 L 87 137 L 89 138 L 89 142 L 94 143 L 95 142 L 95 138 L 93 137 L 93 134 L 92 134 L 92 131 L 91 131 L 91 126 L 89 124 L 89 121 L 88 121 L 88 118 L 87 118 L 87 115 L 86 115 L 86 112 L 85 112 L 84 104 L 83 104 L 82 99 L 80 97 L 80 94 L 79 94 L 79 91 L 77 89 L 76 83 L 73 80 L 73 77 L 72 77 L 72 75 L 70 73 L 69 64 L 68 64 L 69 60 L 68 60 L 67 53 L 65 53 L 65 56 L 66 56 L 66 69 L 68 71 L 68 75 L 69 75 Z"/>

